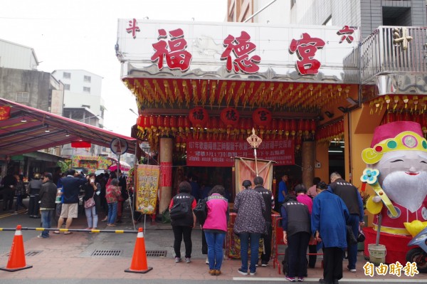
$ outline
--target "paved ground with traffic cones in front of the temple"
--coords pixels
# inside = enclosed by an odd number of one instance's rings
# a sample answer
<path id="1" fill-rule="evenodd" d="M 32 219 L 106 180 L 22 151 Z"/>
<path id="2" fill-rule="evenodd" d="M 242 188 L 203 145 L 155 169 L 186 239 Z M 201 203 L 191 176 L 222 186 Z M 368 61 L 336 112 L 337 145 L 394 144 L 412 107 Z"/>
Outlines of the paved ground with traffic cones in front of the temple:
<path id="1" fill-rule="evenodd" d="M 130 217 L 124 218 L 124 223 L 118 224 L 117 230 L 133 230 Z M 138 223 L 143 226 L 143 223 Z M 72 228 L 85 228 L 85 217 L 73 221 Z M 106 228 L 105 223 L 100 223 L 100 229 Z M 208 273 L 206 265 L 206 255 L 201 254 L 201 230 L 195 228 L 192 233 L 193 253 L 191 263 L 175 263 L 173 253 L 173 233 L 170 224 L 154 223 L 147 221 L 144 232 L 144 243 L 147 251 L 167 251 L 166 257 L 148 257 L 147 263 L 153 270 L 146 274 L 125 273 L 129 268 L 133 250 L 135 247 L 136 234 L 134 233 L 73 233 L 70 236 L 51 235 L 51 238 L 36 238 L 38 232 L 23 231 L 24 247 L 26 253 L 37 252 L 34 256 L 27 256 L 26 263 L 33 265 L 33 268 L 20 270 L 14 273 L 1 271 L 0 278 L 5 279 L 50 279 L 57 278 L 75 278 L 75 279 L 163 279 L 163 280 L 250 280 L 259 278 L 259 280 L 280 280 L 285 281 L 283 274 L 278 274 L 278 268 L 273 268 L 273 261 L 270 261 L 268 267 L 259 267 L 255 276 L 240 275 L 237 270 L 241 267 L 240 260 L 226 259 L 223 261 L 221 275 L 212 276 Z M 2 238 L 13 239 L 13 232 L 4 232 Z M 10 249 L 10 248 L 9 248 Z M 92 256 L 95 250 L 116 249 L 122 251 L 120 256 L 116 257 L 95 257 Z M 184 253 L 184 243 L 181 245 L 181 252 Z M 369 280 L 425 280 L 425 274 L 415 275 L 413 277 L 396 275 L 375 275 L 373 278 L 364 275 L 362 266 L 367 263 L 364 260 L 362 252 L 359 252 L 357 262 L 357 273 L 347 271 L 347 260 L 344 260 L 344 278 L 345 280 L 362 281 Z M 8 261 L 7 253 L 0 255 L 0 266 L 5 266 Z M 404 265 L 404 264 L 403 264 Z M 404 272 L 402 271 L 402 274 Z M 321 261 L 318 258 L 316 268 L 308 270 L 308 277 L 305 282 L 318 282 L 322 278 Z"/>

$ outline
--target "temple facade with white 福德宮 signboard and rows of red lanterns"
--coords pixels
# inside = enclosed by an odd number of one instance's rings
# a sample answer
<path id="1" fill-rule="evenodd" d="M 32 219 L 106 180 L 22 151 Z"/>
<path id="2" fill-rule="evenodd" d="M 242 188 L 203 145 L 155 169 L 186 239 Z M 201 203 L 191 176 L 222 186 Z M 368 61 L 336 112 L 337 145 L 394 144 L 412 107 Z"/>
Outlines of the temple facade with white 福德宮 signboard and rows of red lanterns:
<path id="1" fill-rule="evenodd" d="M 258 158 L 311 186 L 315 176 L 327 179 L 330 141 L 343 140 L 337 107 L 359 101 L 357 80 L 344 72 L 358 38 L 355 27 L 119 20 L 116 55 L 139 108 L 134 135 L 172 168 L 164 173 L 221 167 L 233 179 L 233 158 L 254 157 L 246 142 L 254 129 Z"/>

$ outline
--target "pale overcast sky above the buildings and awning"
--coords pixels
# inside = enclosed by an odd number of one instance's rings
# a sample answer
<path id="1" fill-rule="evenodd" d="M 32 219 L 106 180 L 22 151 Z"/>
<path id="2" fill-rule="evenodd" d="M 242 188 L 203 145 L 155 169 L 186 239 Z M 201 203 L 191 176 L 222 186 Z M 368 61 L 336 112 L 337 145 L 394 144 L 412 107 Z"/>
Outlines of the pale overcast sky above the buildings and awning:
<path id="1" fill-rule="evenodd" d="M 120 80 L 117 19 L 223 21 L 226 0 L 1 1 L 0 38 L 34 48 L 38 70 L 83 69 L 102 76 L 105 128 L 130 136 L 135 97 Z"/>

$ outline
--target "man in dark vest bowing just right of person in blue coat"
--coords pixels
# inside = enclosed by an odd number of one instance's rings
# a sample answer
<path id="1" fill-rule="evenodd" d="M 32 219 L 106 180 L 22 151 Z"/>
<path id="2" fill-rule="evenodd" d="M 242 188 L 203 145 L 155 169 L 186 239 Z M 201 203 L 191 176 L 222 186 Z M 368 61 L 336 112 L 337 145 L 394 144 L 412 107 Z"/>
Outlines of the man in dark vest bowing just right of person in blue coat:
<path id="1" fill-rule="evenodd" d="M 341 197 L 347 209 L 349 209 L 350 217 L 347 224 L 352 226 L 354 236 L 357 236 L 357 233 L 359 233 L 359 226 L 364 226 L 363 202 L 357 187 L 344 181 L 337 172 L 333 172 L 331 174 L 330 188 L 334 194 Z M 347 265 L 348 270 L 356 272 L 357 243 L 353 245 L 348 244 L 347 256 L 349 258 L 349 265 Z"/>

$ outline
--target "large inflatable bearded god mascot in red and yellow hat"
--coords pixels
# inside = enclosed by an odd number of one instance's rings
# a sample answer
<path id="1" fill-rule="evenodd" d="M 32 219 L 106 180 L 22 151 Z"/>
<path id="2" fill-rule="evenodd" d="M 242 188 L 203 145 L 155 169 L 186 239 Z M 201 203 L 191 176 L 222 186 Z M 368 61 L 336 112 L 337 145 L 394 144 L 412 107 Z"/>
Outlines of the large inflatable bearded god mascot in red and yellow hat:
<path id="1" fill-rule="evenodd" d="M 376 193 L 367 201 L 367 210 L 376 215 L 373 228 L 364 230 L 365 255 L 380 228 L 386 263 L 406 263 L 408 241 L 427 226 L 427 141 L 421 125 L 398 121 L 376 127 L 371 148 L 363 150 L 362 159 L 367 169 L 361 180 Z"/>

